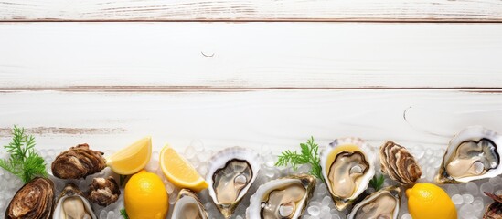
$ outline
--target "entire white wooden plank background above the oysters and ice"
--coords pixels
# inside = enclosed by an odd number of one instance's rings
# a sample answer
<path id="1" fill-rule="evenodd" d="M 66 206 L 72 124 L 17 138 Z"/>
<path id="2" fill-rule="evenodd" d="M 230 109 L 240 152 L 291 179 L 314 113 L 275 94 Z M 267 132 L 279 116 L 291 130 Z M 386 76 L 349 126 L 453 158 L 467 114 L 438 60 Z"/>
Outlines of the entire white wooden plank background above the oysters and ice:
<path id="1" fill-rule="evenodd" d="M 502 131 L 502 2 L 0 1 L 0 141 L 444 147 Z"/>

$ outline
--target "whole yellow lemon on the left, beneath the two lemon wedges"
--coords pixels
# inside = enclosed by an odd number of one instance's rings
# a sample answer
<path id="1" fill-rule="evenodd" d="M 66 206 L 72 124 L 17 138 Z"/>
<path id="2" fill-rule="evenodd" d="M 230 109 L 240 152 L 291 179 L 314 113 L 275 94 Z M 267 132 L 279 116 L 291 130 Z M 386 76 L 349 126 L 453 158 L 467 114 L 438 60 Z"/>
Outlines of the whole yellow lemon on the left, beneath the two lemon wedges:
<path id="1" fill-rule="evenodd" d="M 165 219 L 168 201 L 166 187 L 155 173 L 140 171 L 125 184 L 123 202 L 131 219 Z"/>

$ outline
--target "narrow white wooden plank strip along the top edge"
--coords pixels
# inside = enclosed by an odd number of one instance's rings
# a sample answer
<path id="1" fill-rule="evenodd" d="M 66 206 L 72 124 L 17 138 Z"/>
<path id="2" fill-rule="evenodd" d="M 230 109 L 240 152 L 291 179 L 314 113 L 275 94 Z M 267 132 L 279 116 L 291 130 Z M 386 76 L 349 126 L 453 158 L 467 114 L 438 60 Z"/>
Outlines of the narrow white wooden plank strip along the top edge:
<path id="1" fill-rule="evenodd" d="M 0 1 L 0 19 L 183 21 L 501 21 L 499 0 Z"/>

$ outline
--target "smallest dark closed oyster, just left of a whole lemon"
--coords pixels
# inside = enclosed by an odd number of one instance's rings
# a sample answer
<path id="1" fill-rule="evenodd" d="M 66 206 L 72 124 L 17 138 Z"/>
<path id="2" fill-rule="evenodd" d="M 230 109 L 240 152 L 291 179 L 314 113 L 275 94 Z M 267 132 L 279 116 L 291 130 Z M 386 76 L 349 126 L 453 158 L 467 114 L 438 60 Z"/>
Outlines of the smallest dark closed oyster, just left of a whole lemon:
<path id="1" fill-rule="evenodd" d="M 94 178 L 89 186 L 89 201 L 97 203 L 103 207 L 116 202 L 121 195 L 119 184 L 113 179 L 112 176 L 108 178 Z"/>

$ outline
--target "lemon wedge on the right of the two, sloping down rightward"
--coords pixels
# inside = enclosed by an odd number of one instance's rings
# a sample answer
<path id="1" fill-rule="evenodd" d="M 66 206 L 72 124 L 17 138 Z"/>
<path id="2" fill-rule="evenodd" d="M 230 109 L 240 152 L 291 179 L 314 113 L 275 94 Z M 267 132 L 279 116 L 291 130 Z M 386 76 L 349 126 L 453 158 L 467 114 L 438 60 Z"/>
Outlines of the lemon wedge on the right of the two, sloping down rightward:
<path id="1" fill-rule="evenodd" d="M 167 144 L 160 152 L 160 167 L 167 180 L 177 187 L 196 193 L 208 188 L 208 183 L 197 170 Z"/>

